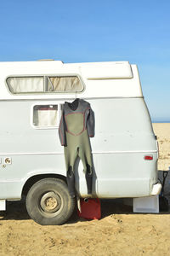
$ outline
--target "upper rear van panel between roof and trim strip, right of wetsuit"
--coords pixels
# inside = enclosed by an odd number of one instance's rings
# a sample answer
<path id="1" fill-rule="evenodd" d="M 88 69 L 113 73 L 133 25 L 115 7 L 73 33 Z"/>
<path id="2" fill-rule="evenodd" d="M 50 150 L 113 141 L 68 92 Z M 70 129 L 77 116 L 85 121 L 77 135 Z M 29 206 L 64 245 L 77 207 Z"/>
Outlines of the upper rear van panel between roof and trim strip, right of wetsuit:
<path id="1" fill-rule="evenodd" d="M 95 113 L 94 151 L 156 150 L 156 138 L 144 98 L 88 101 Z"/>

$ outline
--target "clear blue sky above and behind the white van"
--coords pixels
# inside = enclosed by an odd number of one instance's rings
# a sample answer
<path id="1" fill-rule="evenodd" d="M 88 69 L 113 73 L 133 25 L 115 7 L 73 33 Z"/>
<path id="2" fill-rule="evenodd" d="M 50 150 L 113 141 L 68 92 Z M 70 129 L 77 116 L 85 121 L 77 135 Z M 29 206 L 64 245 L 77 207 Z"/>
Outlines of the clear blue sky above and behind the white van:
<path id="1" fill-rule="evenodd" d="M 170 122 L 169 0 L 0 0 L 0 61 L 129 61 Z"/>

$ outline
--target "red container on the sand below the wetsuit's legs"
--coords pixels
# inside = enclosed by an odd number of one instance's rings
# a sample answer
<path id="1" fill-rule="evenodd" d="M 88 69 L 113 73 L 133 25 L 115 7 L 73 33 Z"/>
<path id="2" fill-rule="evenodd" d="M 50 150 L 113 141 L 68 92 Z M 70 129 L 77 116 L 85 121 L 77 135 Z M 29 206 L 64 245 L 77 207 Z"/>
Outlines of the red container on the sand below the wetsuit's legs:
<path id="1" fill-rule="evenodd" d="M 80 200 L 81 212 L 77 210 L 80 218 L 99 219 L 101 218 L 101 205 L 99 198 Z"/>

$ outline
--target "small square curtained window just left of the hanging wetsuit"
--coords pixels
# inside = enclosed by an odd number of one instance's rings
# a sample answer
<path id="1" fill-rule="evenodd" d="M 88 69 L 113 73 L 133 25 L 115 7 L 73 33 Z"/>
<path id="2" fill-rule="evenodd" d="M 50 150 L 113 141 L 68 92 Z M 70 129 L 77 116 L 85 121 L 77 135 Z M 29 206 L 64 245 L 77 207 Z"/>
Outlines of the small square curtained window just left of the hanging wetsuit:
<path id="1" fill-rule="evenodd" d="M 57 105 L 36 105 L 33 108 L 33 125 L 53 127 L 57 125 Z"/>

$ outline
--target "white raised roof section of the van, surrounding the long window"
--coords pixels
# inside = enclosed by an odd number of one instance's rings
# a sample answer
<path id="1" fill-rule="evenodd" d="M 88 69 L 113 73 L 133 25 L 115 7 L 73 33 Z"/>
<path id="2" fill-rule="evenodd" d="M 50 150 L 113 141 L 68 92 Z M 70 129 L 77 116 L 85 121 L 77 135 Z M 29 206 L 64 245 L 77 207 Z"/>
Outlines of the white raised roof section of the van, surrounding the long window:
<path id="1" fill-rule="evenodd" d="M 6 84 L 10 76 L 78 75 L 84 81 L 86 90 L 80 97 L 142 96 L 139 73 L 136 65 L 128 61 L 103 61 L 63 63 L 62 61 L 2 61 L 0 82 Z M 75 93 L 38 95 L 11 95 L 6 86 L 0 87 L 0 98 L 71 98 Z"/>

